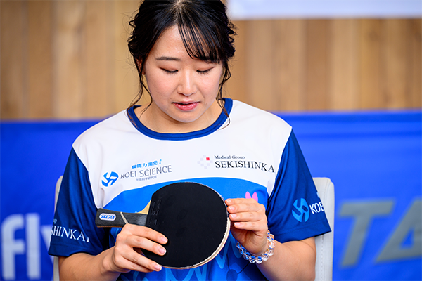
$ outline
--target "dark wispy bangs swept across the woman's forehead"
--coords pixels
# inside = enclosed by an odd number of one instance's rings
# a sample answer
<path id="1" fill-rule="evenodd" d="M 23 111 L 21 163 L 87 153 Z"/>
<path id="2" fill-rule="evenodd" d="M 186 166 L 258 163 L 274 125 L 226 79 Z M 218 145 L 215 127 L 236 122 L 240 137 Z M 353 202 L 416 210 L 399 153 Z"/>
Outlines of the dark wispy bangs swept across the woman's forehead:
<path id="1" fill-rule="evenodd" d="M 204 22 L 183 22 L 179 25 L 181 40 L 191 58 L 210 63 L 224 60 L 222 44 L 215 34 L 215 28 Z"/>

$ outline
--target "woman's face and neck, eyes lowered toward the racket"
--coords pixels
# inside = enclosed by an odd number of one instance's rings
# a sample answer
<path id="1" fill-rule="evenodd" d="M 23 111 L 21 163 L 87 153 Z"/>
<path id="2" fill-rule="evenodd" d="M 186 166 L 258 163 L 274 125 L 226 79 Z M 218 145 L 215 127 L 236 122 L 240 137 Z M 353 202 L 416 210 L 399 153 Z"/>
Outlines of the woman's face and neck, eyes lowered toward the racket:
<path id="1" fill-rule="evenodd" d="M 221 112 L 216 102 L 222 63 L 191 58 L 177 26 L 156 41 L 144 74 L 152 104 L 141 122 L 153 131 L 184 133 L 210 126 Z"/>

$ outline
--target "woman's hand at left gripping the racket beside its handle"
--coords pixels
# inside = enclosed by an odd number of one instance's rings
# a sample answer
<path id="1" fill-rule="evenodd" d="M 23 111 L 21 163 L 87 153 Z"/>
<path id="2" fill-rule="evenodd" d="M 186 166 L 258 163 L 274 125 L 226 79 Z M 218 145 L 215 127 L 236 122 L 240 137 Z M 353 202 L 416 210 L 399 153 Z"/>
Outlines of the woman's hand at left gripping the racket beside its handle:
<path id="1" fill-rule="evenodd" d="M 126 224 L 117 235 L 116 244 L 110 249 L 104 268 L 112 272 L 127 273 L 136 270 L 143 273 L 160 271 L 161 266 L 143 256 L 146 249 L 160 256 L 165 254 L 162 244 L 167 243 L 167 237 L 145 226 Z"/>

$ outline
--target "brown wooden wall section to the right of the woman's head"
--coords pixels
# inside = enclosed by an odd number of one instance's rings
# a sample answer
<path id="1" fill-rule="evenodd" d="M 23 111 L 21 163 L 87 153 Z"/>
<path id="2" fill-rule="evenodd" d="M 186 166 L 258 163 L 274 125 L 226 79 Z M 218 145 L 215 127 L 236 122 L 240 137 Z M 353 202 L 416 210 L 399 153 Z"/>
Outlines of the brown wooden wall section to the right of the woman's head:
<path id="1" fill-rule="evenodd" d="M 231 89 L 236 86 L 230 83 L 246 86 L 248 94 L 231 93 L 234 98 L 266 110 L 421 107 L 421 19 L 268 20 L 241 26 L 242 36 L 261 51 L 236 42 L 245 50 L 243 67 L 249 76 L 239 82 L 236 72 L 229 82 Z M 274 77 L 268 77 L 270 72 Z M 270 100 L 260 101 L 264 91 L 250 86 L 260 79 L 274 83 L 262 88 L 276 93 L 265 96 Z"/>

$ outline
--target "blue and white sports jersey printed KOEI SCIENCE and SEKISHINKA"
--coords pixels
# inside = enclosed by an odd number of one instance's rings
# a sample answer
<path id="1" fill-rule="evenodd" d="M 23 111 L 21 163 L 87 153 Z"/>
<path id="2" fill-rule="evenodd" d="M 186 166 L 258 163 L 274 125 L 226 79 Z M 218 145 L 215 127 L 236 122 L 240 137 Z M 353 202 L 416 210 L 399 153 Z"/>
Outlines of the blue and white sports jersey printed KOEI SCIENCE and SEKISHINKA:
<path id="1" fill-rule="evenodd" d="M 49 254 L 96 255 L 113 247 L 121 228 L 96 228 L 98 208 L 138 212 L 158 188 L 180 181 L 210 186 L 224 199 L 254 198 L 265 206 L 269 230 L 279 242 L 330 231 L 291 126 L 264 110 L 224 100 L 229 117 L 222 112 L 214 124 L 200 131 L 151 131 L 131 107 L 82 133 L 72 145 L 63 175 Z M 265 277 L 241 257 L 229 235 L 222 251 L 203 266 L 131 271 L 122 273 L 120 279 Z"/>

